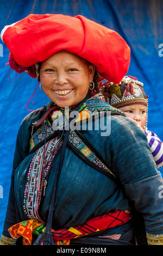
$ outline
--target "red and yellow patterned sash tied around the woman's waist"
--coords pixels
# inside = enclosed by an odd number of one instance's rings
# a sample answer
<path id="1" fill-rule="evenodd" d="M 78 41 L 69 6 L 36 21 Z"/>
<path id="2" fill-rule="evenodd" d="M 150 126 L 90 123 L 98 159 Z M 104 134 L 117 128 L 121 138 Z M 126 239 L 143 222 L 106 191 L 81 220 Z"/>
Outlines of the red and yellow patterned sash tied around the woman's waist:
<path id="1" fill-rule="evenodd" d="M 95 233 L 97 231 L 117 227 L 129 221 L 131 218 L 130 213 L 126 211 L 109 212 L 89 221 L 84 222 L 82 225 L 76 227 L 63 228 L 59 230 L 51 230 L 53 240 L 56 245 L 69 245 L 71 239 L 80 236 Z M 12 238 L 17 239 L 23 237 L 23 245 L 31 245 L 33 233 L 39 235 L 45 231 L 45 224 L 37 220 L 27 220 L 13 225 L 8 229 Z"/>

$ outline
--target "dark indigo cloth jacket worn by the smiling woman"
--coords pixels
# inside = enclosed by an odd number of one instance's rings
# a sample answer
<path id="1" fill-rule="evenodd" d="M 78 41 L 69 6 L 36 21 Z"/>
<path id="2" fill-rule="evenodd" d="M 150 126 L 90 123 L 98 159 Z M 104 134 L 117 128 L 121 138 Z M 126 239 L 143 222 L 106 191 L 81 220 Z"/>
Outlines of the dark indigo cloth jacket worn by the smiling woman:
<path id="1" fill-rule="evenodd" d="M 35 154 L 29 154 L 29 139 L 32 124 L 42 117 L 42 110 L 43 108 L 28 114 L 18 131 L 3 230 L 5 236 L 10 236 L 9 227 L 27 220 L 23 211 L 23 192 L 29 164 Z M 133 122 L 120 115 L 111 116 L 109 136 L 102 137 L 100 130 L 81 132 L 112 167 L 122 186 L 81 161 L 70 148 L 66 148 L 57 190 L 53 229 L 72 227 L 109 211 L 130 210 L 135 206 L 143 214 L 146 231 L 163 234 L 163 204 L 159 197 L 163 180 L 156 169 L 146 135 Z M 60 151 L 49 174 L 45 199 L 39 209 L 45 222 L 59 157 Z"/>

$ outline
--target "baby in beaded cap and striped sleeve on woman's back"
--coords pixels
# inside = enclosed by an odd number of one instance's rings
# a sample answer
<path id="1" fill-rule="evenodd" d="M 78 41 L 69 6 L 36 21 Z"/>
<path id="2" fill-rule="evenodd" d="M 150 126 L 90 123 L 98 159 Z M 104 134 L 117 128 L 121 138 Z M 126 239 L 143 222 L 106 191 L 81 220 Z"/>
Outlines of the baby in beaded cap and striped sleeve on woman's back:
<path id="1" fill-rule="evenodd" d="M 105 82 L 102 85 L 102 93 L 111 106 L 120 109 L 145 132 L 156 166 L 162 167 L 163 142 L 154 132 L 147 129 L 148 96 L 143 89 L 143 83 L 133 76 L 124 76 L 119 84 Z"/>

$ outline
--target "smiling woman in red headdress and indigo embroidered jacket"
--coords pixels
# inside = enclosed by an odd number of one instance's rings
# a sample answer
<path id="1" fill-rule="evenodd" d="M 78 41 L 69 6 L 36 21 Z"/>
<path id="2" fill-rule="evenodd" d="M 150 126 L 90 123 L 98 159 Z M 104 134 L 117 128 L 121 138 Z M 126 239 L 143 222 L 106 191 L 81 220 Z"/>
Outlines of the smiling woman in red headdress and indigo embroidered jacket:
<path id="1" fill-rule="evenodd" d="M 133 245 L 134 207 L 157 243 L 161 175 L 146 136 L 97 87 L 99 74 L 126 74 L 126 42 L 83 16 L 50 14 L 5 27 L 2 40 L 11 68 L 37 77 L 51 101 L 18 131 L 1 244 Z"/>

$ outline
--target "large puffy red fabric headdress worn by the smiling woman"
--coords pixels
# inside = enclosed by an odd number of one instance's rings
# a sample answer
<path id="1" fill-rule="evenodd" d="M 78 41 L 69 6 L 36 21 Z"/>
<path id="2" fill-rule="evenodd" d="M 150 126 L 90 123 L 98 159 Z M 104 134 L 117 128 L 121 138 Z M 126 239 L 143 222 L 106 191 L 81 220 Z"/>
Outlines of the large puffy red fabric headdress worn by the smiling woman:
<path id="1" fill-rule="evenodd" d="M 97 68 L 105 79 L 119 83 L 130 63 L 130 48 L 122 37 L 85 17 L 30 14 L 5 26 L 1 39 L 10 51 L 11 69 L 35 78 L 35 64 L 65 50 L 76 53 Z"/>

